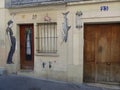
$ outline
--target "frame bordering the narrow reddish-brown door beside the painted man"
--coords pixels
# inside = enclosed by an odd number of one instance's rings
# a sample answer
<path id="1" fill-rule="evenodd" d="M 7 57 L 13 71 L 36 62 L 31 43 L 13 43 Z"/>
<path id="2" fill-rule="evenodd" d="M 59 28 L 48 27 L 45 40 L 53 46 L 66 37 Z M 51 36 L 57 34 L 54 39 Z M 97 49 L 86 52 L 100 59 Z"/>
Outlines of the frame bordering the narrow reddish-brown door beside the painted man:
<path id="1" fill-rule="evenodd" d="M 34 53 L 35 53 L 35 48 L 34 48 L 34 45 L 35 45 L 35 40 L 34 40 L 34 23 L 20 23 L 20 24 L 17 24 L 17 28 L 18 28 L 18 40 L 19 40 L 19 45 L 18 45 L 18 47 L 19 47 L 19 69 L 20 70 L 24 70 L 24 69 L 21 69 L 21 49 L 20 49 L 20 26 L 21 25 L 33 25 L 33 51 L 34 51 Z M 33 69 L 31 69 L 31 70 L 34 70 L 34 53 L 33 53 Z M 27 69 L 25 69 L 25 70 L 27 70 Z"/>

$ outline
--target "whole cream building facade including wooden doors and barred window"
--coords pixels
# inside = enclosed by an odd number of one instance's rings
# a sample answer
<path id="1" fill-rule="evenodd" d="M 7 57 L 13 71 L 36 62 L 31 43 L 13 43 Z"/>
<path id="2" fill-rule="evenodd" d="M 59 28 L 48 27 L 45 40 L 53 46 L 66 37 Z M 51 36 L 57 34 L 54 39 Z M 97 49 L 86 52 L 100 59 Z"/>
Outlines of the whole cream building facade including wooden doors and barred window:
<path id="1" fill-rule="evenodd" d="M 119 5 L 117 0 L 11 4 L 1 16 L 1 67 L 66 82 L 119 83 Z M 5 29 L 10 19 L 17 43 L 14 64 L 5 64 L 10 47 Z M 68 34 L 64 25 L 71 26 Z"/>

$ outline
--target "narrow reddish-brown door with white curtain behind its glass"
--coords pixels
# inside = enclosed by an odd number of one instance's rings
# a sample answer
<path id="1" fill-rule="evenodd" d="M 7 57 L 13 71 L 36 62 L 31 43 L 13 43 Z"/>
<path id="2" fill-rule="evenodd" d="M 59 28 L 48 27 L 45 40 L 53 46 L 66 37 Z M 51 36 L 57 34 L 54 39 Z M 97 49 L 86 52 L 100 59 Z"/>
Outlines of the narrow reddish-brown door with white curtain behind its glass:
<path id="1" fill-rule="evenodd" d="M 20 64 L 21 69 L 33 69 L 34 67 L 33 24 L 20 25 Z"/>

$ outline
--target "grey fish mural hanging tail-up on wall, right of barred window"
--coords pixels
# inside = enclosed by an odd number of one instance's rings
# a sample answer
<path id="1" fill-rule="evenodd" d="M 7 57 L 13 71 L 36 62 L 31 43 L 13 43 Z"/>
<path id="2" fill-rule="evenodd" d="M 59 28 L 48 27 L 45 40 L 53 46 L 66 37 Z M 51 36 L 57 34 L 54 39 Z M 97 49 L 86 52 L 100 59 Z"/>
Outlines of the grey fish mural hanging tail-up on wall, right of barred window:
<path id="1" fill-rule="evenodd" d="M 64 23 L 62 23 L 62 26 L 63 26 L 63 42 L 67 42 L 68 31 L 71 28 L 71 26 L 68 26 L 68 19 L 67 19 L 68 13 L 69 13 L 69 11 L 63 13 L 63 16 L 64 16 Z"/>

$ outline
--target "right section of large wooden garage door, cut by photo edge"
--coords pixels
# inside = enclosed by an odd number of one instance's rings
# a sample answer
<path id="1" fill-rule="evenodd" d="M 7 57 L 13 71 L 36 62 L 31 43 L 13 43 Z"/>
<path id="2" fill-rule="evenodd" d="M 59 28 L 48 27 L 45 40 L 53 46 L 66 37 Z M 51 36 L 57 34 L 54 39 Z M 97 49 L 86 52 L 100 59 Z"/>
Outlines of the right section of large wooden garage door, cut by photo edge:
<path id="1" fill-rule="evenodd" d="M 120 82 L 120 24 L 112 27 L 110 81 Z"/>

